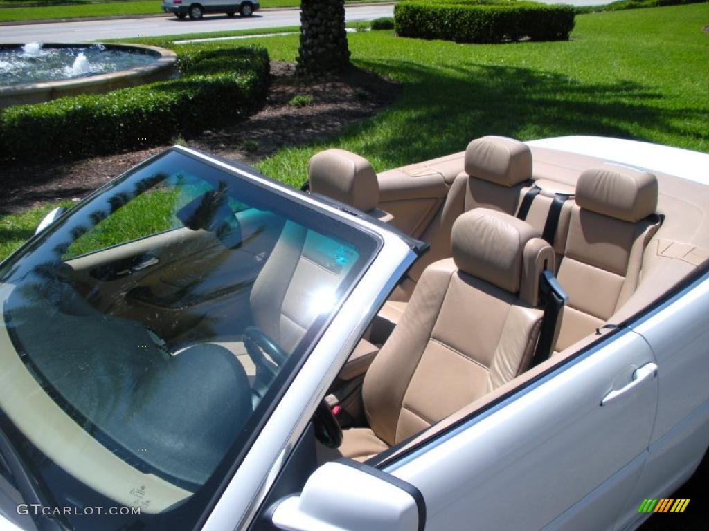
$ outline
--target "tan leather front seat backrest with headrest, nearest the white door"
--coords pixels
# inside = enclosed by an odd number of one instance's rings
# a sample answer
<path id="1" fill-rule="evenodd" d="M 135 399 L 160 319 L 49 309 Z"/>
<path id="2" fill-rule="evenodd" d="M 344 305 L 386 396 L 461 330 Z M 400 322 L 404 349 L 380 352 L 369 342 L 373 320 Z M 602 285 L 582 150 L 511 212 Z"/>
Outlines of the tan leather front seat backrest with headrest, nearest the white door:
<path id="1" fill-rule="evenodd" d="M 421 275 L 364 379 L 369 426 L 393 445 L 457 411 L 530 363 L 552 248 L 527 223 L 478 208 L 458 217 L 452 258 Z"/>

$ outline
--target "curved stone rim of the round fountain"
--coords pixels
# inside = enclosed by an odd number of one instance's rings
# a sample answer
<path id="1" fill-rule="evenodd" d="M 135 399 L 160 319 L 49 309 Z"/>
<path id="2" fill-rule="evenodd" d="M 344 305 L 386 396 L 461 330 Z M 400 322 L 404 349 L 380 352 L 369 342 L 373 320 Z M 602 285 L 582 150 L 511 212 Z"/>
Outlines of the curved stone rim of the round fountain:
<path id="1" fill-rule="evenodd" d="M 110 74 L 63 79 L 60 81 L 43 81 L 20 85 L 0 86 L 0 108 L 11 105 L 42 103 L 64 96 L 79 94 L 101 94 L 117 89 L 126 89 L 153 81 L 171 79 L 178 75 L 177 55 L 172 50 L 157 46 L 108 44 L 104 42 L 44 42 L 43 48 L 85 47 L 103 45 L 106 50 L 123 50 L 145 53 L 155 57 L 155 61 L 142 67 L 135 67 Z M 0 44 L 0 50 L 22 47 L 22 44 Z"/>

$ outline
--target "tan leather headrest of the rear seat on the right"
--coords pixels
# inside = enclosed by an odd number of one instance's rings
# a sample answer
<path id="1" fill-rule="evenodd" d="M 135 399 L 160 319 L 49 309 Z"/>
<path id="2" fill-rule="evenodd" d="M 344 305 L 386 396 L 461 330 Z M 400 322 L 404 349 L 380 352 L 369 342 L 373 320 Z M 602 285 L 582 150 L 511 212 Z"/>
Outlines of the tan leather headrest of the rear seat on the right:
<path id="1" fill-rule="evenodd" d="M 657 209 L 657 177 L 616 164 L 581 173 L 576 204 L 586 210 L 635 223 Z"/>

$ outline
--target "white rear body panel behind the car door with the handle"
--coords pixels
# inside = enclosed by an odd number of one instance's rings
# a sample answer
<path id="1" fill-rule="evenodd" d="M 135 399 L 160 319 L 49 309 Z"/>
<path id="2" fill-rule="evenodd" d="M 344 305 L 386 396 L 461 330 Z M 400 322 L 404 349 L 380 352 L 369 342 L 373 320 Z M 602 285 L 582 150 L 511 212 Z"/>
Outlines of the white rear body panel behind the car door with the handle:
<path id="1" fill-rule="evenodd" d="M 634 329 L 659 366 L 659 398 L 649 456 L 617 529 L 635 527 L 646 498 L 671 496 L 709 445 L 709 275 L 645 317 Z"/>

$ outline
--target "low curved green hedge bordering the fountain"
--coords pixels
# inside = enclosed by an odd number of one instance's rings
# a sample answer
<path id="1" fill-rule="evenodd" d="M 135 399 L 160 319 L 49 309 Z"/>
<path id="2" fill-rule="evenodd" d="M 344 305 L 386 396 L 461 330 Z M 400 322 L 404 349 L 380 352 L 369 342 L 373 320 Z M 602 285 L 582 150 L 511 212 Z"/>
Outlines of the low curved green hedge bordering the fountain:
<path id="1" fill-rule="evenodd" d="M 264 48 L 179 50 L 182 77 L 0 112 L 0 158 L 46 161 L 169 143 L 259 108 L 269 82 Z"/>

